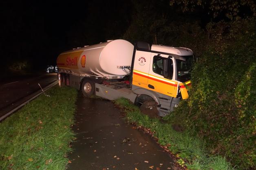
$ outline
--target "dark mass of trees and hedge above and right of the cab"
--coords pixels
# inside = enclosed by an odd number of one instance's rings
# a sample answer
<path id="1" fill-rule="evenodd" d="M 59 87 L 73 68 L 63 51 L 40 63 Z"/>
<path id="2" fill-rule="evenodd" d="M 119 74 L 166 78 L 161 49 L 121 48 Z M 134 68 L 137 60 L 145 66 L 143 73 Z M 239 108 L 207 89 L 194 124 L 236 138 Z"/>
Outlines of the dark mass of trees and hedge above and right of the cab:
<path id="1" fill-rule="evenodd" d="M 194 51 L 199 59 L 192 70 L 190 98 L 165 119 L 204 139 L 209 153 L 249 169 L 255 168 L 256 19 L 255 3 L 242 2 L 171 1 L 171 7 L 158 10 L 153 7 L 167 2 L 133 1 L 124 38 Z"/>

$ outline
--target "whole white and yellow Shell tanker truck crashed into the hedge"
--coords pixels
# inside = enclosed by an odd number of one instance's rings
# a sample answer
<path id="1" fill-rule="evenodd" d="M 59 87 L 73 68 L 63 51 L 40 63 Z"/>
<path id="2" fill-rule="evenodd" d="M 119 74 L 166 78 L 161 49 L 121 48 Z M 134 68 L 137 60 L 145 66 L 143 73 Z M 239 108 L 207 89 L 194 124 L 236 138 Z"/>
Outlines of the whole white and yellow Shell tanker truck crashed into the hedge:
<path id="1" fill-rule="evenodd" d="M 60 85 L 84 96 L 124 97 L 163 117 L 188 98 L 192 61 L 188 48 L 117 39 L 62 52 L 57 66 Z"/>

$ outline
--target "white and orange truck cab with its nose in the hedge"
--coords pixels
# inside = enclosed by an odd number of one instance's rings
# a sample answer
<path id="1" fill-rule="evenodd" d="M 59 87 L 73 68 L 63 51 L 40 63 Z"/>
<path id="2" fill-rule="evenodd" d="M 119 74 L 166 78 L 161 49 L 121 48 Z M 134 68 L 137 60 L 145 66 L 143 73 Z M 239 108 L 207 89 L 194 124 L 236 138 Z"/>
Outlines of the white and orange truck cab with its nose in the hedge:
<path id="1" fill-rule="evenodd" d="M 153 99 L 159 116 L 173 111 L 181 98 L 188 98 L 184 84 L 190 85 L 192 61 L 193 52 L 188 48 L 135 44 L 132 91 L 139 94 L 135 104 Z"/>

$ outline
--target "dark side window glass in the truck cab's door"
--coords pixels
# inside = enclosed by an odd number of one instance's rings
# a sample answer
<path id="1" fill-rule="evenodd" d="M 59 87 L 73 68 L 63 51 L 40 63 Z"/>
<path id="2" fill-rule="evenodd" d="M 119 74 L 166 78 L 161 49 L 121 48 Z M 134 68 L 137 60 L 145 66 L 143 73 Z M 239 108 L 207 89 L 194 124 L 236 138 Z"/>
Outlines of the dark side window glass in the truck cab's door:
<path id="1" fill-rule="evenodd" d="M 164 57 L 161 57 L 159 55 L 155 55 L 153 58 L 153 72 L 156 74 L 159 74 L 161 76 L 163 75 L 164 69 L 163 69 L 163 60 L 166 59 Z M 170 60 L 170 76 L 172 77 L 173 72 L 173 63 L 172 60 Z"/>

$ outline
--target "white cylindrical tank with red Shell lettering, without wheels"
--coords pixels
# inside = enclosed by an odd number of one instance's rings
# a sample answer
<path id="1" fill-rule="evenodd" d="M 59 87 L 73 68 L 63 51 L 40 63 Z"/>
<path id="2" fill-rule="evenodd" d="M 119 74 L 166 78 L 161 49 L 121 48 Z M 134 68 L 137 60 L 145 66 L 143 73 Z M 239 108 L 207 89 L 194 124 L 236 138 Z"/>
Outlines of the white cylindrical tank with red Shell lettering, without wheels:
<path id="1" fill-rule="evenodd" d="M 130 74 L 133 45 L 123 39 L 62 52 L 57 58 L 60 72 L 81 76 L 123 78 Z"/>

